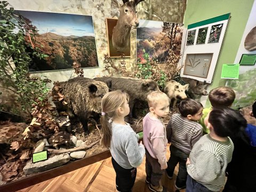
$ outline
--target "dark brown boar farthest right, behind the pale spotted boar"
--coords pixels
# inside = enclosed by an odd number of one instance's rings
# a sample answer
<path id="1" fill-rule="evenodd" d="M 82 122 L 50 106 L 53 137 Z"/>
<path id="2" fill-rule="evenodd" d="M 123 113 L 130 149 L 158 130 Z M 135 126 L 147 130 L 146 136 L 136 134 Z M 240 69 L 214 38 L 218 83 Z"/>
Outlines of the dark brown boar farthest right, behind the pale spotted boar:
<path id="1" fill-rule="evenodd" d="M 207 91 L 204 89 L 205 82 L 199 82 L 196 79 L 182 77 L 185 83 L 189 84 L 189 96 L 195 99 L 195 94 L 197 95 L 208 95 Z"/>

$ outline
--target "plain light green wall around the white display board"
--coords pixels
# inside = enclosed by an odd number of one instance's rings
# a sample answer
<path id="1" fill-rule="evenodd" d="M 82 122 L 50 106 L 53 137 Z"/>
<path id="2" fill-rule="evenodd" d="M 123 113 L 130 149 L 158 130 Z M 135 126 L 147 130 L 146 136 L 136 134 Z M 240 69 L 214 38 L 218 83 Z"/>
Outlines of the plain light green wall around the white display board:
<path id="1" fill-rule="evenodd" d="M 220 78 L 222 64 L 234 62 L 253 2 L 254 0 L 187 0 L 184 18 L 186 28 L 189 24 L 231 13 L 210 89 L 226 83 L 226 79 Z M 206 107 L 209 106 L 210 102 L 207 101 Z"/>

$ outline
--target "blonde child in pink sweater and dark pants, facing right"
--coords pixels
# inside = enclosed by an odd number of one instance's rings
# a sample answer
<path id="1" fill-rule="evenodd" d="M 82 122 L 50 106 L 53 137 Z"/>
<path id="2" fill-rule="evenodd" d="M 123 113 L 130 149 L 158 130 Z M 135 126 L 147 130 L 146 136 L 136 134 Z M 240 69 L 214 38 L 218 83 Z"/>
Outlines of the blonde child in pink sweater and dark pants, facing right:
<path id="1" fill-rule="evenodd" d="M 169 97 L 161 91 L 151 92 L 148 97 L 150 112 L 143 118 L 143 143 L 146 148 L 146 182 L 151 191 L 163 191 L 160 182 L 166 161 L 166 130 L 162 120 L 169 114 Z"/>

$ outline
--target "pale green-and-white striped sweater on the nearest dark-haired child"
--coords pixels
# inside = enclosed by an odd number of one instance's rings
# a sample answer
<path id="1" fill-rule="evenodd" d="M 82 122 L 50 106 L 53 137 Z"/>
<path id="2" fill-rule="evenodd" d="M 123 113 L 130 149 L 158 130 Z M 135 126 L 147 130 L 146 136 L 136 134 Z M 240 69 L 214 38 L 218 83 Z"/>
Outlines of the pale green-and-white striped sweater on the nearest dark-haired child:
<path id="1" fill-rule="evenodd" d="M 225 172 L 231 161 L 234 144 L 230 138 L 227 141 L 217 141 L 204 135 L 193 147 L 187 165 L 191 178 L 212 191 L 220 191 L 225 185 Z"/>

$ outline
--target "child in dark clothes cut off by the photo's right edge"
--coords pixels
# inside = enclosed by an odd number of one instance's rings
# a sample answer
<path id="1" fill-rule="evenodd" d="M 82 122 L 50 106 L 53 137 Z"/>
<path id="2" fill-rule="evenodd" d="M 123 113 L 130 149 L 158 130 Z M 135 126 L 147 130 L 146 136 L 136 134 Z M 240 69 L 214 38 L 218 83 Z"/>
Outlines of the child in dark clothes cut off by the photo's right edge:
<path id="1" fill-rule="evenodd" d="M 256 116 L 256 102 L 250 115 Z M 223 192 L 254 192 L 256 190 L 256 126 L 247 124 L 245 130 L 230 137 L 234 142 L 234 153 L 228 164 L 228 179 Z M 239 168 L 238 168 L 239 167 Z"/>

